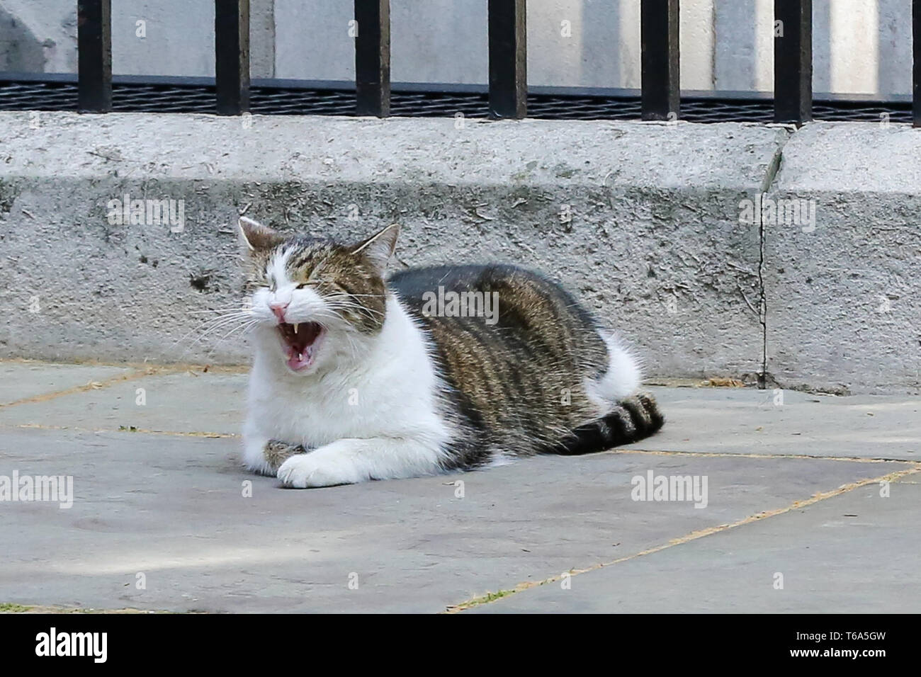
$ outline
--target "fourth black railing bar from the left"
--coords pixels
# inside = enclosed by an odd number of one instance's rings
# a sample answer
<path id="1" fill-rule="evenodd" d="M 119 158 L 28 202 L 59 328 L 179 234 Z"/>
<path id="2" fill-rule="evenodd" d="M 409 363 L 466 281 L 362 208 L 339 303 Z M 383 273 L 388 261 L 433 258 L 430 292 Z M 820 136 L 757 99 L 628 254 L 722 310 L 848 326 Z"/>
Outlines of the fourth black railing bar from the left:
<path id="1" fill-rule="evenodd" d="M 489 116 L 528 114 L 525 0 L 489 0 Z"/>

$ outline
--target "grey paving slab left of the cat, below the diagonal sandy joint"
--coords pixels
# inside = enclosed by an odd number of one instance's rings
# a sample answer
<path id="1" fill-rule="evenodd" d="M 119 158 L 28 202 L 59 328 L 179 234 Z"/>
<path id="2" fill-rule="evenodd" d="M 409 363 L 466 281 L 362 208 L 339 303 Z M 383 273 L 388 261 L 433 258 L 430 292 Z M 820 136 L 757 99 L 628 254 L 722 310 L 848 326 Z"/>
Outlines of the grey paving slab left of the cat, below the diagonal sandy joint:
<path id="1" fill-rule="evenodd" d="M 186 370 L 0 409 L 0 426 L 239 433 L 245 374 Z"/>

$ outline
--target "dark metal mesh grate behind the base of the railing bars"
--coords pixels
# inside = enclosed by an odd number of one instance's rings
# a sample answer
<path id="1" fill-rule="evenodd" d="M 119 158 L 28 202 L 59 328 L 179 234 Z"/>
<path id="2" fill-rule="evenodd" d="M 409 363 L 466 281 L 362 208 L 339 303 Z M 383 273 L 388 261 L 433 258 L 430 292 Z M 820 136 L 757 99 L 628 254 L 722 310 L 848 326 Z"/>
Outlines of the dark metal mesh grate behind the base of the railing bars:
<path id="1" fill-rule="evenodd" d="M 75 111 L 74 82 L 0 82 L 2 111 Z M 251 111 L 270 115 L 355 115 L 354 91 L 322 88 L 253 87 Z M 131 112 L 215 111 L 215 88 L 208 85 L 115 83 L 112 110 Z M 692 123 L 770 123 L 770 99 L 682 99 L 682 120 Z M 478 92 L 394 91 L 391 115 L 484 118 L 487 96 Z M 813 116 L 824 121 L 911 123 L 910 102 L 815 101 Z M 638 97 L 531 93 L 528 117 L 547 120 L 638 120 Z"/>

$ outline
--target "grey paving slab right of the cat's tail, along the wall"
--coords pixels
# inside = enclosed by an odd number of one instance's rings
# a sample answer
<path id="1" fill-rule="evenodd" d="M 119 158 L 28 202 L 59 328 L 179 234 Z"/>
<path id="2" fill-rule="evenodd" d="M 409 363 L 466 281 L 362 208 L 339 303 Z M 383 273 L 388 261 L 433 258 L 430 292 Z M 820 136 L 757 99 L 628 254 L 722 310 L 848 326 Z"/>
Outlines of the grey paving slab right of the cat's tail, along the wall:
<path id="1" fill-rule="evenodd" d="M 921 461 L 921 397 L 652 388 L 666 416 L 627 449 Z"/>

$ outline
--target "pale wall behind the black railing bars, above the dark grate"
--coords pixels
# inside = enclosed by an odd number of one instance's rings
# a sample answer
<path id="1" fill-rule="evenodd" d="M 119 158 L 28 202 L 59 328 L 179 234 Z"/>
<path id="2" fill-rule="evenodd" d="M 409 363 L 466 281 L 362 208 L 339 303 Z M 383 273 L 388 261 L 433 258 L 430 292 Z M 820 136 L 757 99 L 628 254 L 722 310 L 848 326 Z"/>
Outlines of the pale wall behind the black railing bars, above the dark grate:
<path id="1" fill-rule="evenodd" d="M 393 79 L 486 82 L 486 4 L 393 2 Z M 773 89 L 773 7 L 682 0 L 682 88 Z M 352 18 L 348 0 L 251 0 L 252 76 L 354 78 Z M 911 92 L 911 0 L 815 0 L 813 23 L 817 92 Z M 113 71 L 213 76 L 213 26 L 211 0 L 112 3 Z M 639 87 L 639 0 L 531 2 L 528 40 L 531 85 Z M 74 0 L 0 0 L 0 69 L 75 72 Z"/>

